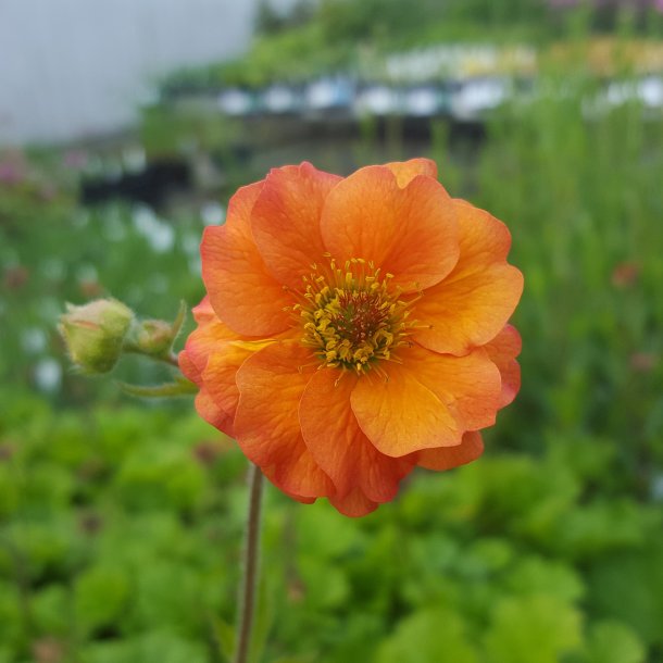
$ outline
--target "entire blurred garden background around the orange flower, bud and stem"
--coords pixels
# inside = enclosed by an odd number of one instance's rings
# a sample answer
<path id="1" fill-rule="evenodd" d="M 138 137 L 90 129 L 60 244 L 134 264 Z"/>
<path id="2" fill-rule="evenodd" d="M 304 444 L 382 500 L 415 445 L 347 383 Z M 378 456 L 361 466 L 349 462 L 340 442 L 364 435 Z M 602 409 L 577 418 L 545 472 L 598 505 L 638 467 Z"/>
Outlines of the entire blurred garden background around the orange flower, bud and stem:
<path id="1" fill-rule="evenodd" d="M 365 518 L 267 491 L 253 661 L 663 663 L 660 0 L 0 0 L 0 663 L 232 650 L 246 461 L 72 372 L 64 303 L 173 318 L 238 186 L 415 155 L 512 230 L 522 391 Z"/>

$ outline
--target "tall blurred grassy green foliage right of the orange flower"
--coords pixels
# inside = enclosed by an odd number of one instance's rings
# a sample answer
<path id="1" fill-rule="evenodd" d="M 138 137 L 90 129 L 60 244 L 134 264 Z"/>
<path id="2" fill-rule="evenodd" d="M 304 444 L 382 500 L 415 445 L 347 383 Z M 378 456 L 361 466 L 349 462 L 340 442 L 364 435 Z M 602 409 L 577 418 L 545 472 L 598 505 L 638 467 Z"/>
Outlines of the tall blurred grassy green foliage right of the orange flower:
<path id="1" fill-rule="evenodd" d="M 470 185 L 510 225 L 526 274 L 516 321 L 531 392 L 517 416 L 539 424 L 533 448 L 548 429 L 623 440 L 623 487 L 645 496 L 663 462 L 663 122 L 636 102 L 591 112 L 590 83 L 556 80 L 566 95 L 495 120 Z"/>

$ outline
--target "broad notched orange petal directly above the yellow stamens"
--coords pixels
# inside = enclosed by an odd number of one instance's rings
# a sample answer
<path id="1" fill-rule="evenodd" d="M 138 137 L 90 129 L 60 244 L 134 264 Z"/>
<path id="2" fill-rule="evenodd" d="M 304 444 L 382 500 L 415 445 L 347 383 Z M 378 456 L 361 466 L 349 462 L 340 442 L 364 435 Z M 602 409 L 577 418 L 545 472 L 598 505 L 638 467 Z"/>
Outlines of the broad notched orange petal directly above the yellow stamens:
<path id="1" fill-rule="evenodd" d="M 395 275 L 405 292 L 439 283 L 459 257 L 451 198 L 430 177 L 401 189 L 385 166 L 361 168 L 327 196 L 321 221 L 325 246 L 341 264 L 362 258 Z"/>

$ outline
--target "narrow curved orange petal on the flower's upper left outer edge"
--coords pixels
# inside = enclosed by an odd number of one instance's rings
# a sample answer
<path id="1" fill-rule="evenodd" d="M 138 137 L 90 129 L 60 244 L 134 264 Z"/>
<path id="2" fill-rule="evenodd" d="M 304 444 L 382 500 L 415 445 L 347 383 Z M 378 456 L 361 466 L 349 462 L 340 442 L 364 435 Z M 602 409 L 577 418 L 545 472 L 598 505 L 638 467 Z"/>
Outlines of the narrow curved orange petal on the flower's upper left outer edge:
<path id="1" fill-rule="evenodd" d="M 202 237 L 202 279 L 218 317 L 238 334 L 271 336 L 289 326 L 289 296 L 267 271 L 251 234 L 251 210 L 262 183 L 233 196 L 223 226 Z"/>

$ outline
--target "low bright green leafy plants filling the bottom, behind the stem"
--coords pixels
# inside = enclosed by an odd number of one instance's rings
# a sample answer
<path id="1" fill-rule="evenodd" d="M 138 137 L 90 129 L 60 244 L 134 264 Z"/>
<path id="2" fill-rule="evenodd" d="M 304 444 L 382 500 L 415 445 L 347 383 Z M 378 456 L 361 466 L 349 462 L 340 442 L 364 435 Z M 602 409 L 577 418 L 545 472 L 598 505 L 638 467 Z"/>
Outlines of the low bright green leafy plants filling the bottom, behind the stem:
<path id="1" fill-rule="evenodd" d="M 217 660 L 246 498 L 233 443 L 192 413 L 1 396 L 0 660 L 45 643 L 59 661 Z M 605 440 L 584 446 L 590 471 L 622 473 Z M 587 472 L 556 445 L 489 455 L 422 472 L 359 521 L 267 491 L 254 660 L 659 660 L 663 514 Z M 567 533 L 578 518 L 589 548 Z"/>

